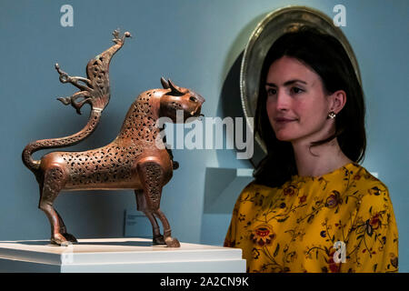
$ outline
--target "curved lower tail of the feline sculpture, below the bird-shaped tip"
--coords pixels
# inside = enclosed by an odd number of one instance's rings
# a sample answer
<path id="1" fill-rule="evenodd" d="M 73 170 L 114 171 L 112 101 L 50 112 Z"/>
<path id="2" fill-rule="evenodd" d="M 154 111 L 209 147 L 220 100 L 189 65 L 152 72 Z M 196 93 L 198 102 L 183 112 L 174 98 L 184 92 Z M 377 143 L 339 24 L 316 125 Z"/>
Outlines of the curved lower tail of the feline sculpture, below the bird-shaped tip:
<path id="1" fill-rule="evenodd" d="M 33 154 L 35 152 L 45 148 L 74 146 L 80 141 L 84 140 L 88 135 L 91 135 L 94 132 L 96 125 L 98 125 L 99 120 L 101 119 L 101 112 L 102 110 L 99 109 L 91 110 L 88 123 L 81 131 L 77 132 L 74 135 L 60 138 L 41 139 L 25 146 L 25 149 L 22 153 L 23 163 L 25 164 L 25 166 L 33 173 L 36 173 L 40 167 L 40 161 L 33 159 Z"/>

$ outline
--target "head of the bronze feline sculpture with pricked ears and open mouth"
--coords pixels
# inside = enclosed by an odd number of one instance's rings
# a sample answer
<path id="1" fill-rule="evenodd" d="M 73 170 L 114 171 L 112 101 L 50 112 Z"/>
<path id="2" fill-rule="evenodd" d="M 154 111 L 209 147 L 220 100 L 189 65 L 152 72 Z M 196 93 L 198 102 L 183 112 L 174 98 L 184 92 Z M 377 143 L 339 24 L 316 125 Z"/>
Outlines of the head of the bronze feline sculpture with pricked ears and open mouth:
<path id="1" fill-rule="evenodd" d="M 180 110 L 179 115 L 183 111 L 183 122 L 189 117 L 201 116 L 200 110 L 205 102 L 204 97 L 195 91 L 173 84 L 171 80 L 166 81 L 161 78 L 161 83 L 166 90 L 160 101 L 160 116 L 169 117 L 174 123 L 180 122 L 176 119 L 178 110 Z"/>

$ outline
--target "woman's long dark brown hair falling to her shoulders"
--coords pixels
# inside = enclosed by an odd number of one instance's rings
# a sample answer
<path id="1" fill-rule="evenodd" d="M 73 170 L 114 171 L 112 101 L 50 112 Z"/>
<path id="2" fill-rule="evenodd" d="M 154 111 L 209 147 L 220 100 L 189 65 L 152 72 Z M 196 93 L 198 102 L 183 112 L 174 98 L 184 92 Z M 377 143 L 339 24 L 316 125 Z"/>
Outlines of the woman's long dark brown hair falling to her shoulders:
<path id="1" fill-rule="evenodd" d="M 267 155 L 255 167 L 255 183 L 265 186 L 282 186 L 297 174 L 294 150 L 290 142 L 279 141 L 267 116 L 265 80 L 268 69 L 282 56 L 294 57 L 312 68 L 321 77 L 324 91 L 332 94 L 344 90 L 346 103 L 335 117 L 335 133 L 316 141 L 311 146 L 337 139 L 344 155 L 354 162 L 364 158 L 366 135 L 364 128 L 364 92 L 354 72 L 354 65 L 344 46 L 332 35 L 304 26 L 297 32 L 280 36 L 268 51 L 262 67 L 259 95 L 254 116 L 254 135 L 264 141 Z"/>

